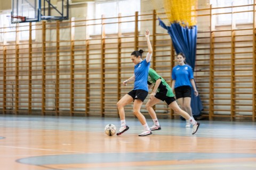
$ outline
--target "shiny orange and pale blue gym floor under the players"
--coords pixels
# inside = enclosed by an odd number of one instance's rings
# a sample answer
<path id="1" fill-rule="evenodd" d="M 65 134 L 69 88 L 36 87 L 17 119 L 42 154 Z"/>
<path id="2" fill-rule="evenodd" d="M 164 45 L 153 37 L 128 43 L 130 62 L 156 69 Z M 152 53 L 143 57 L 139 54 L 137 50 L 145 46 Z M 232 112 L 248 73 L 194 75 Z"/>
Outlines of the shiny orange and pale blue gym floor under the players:
<path id="1" fill-rule="evenodd" d="M 109 137 L 119 118 L 0 115 L 0 169 L 256 169 L 256 124 L 201 121 L 195 135 L 181 120 L 159 120 L 162 130 Z M 152 125 L 152 121 L 148 120 Z"/>

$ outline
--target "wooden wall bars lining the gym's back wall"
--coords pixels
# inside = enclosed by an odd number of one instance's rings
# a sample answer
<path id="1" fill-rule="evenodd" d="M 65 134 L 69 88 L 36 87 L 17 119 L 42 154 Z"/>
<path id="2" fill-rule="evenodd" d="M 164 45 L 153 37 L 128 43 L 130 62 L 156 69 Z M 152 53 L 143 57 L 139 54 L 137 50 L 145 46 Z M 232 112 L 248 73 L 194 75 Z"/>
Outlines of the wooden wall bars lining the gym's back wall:
<path id="1" fill-rule="evenodd" d="M 230 27 L 215 27 L 214 18 L 220 15 L 216 9 L 210 6 L 197 12 L 197 20 L 210 25 L 198 24 L 194 75 L 204 106 L 202 116 L 255 121 L 255 17 L 253 24 L 243 28 L 237 28 L 234 21 Z M 255 16 L 255 4 L 250 12 Z M 164 14 L 158 15 L 168 23 Z M 136 12 L 134 16 L 0 28 L 3 37 L 16 34 L 14 41 L 0 42 L 1 114 L 117 116 L 117 101 L 133 88 L 133 83 L 122 85 L 133 75 L 130 54 L 138 49 L 147 53 L 145 29 L 151 32 L 151 67 L 171 85 L 175 52 L 157 17 L 155 11 Z M 116 33 L 106 32 L 111 24 L 116 24 Z M 134 30 L 124 32 L 125 24 L 134 24 Z M 99 29 L 100 33 L 93 32 Z M 21 40 L 21 33 L 28 33 L 28 39 Z M 165 103 L 155 109 L 159 117 L 178 117 Z M 133 115 L 132 105 L 125 112 Z M 141 112 L 148 115 L 145 105 Z"/>

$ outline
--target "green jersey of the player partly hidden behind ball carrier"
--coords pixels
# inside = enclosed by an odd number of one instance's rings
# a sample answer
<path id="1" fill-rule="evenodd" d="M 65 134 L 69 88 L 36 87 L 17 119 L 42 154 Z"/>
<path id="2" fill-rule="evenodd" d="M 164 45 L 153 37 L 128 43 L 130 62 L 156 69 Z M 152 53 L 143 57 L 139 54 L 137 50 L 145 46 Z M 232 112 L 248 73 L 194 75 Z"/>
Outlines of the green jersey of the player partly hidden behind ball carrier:
<path id="1" fill-rule="evenodd" d="M 174 97 L 174 94 L 172 92 L 172 88 L 169 86 L 168 83 L 166 83 L 166 81 L 157 74 L 157 72 L 151 68 L 149 68 L 148 71 L 148 84 L 154 84 L 156 83 L 156 80 L 161 79 L 161 83 L 159 84 L 158 88 L 157 88 L 157 92 L 161 91 L 161 90 L 167 90 L 167 94 L 166 96 L 168 97 Z"/>

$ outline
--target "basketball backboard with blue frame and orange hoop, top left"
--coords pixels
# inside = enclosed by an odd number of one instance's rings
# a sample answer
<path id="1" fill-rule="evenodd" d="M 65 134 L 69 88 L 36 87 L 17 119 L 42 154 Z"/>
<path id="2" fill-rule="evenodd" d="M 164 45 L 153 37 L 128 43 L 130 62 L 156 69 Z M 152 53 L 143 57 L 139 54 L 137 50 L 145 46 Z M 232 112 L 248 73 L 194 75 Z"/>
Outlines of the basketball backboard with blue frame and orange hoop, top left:
<path id="1" fill-rule="evenodd" d="M 68 0 L 12 0 L 11 22 L 67 20 Z"/>

